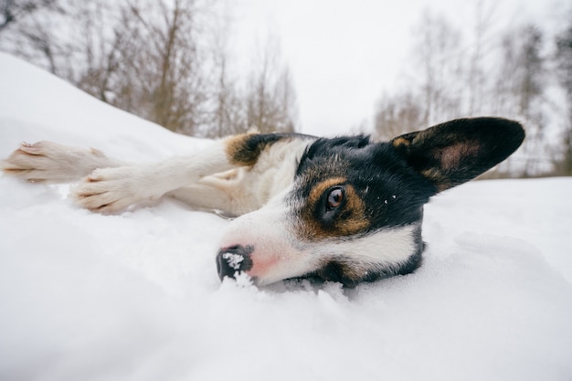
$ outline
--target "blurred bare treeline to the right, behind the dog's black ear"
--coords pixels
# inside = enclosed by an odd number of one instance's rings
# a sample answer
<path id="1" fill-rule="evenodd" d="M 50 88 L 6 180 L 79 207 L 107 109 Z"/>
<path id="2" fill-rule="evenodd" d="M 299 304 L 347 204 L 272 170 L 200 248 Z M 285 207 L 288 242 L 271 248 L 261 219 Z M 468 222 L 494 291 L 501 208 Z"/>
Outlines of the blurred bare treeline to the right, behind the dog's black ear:
<path id="1" fill-rule="evenodd" d="M 477 3 L 473 26 L 426 12 L 408 70 L 376 106 L 376 137 L 452 118 L 496 115 L 523 122 L 523 148 L 496 175 L 572 175 L 572 22 L 556 37 L 539 26 L 493 25 Z M 502 142 L 499 142 L 502 144 Z"/>

